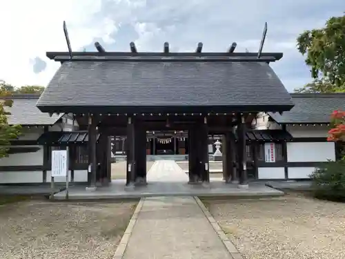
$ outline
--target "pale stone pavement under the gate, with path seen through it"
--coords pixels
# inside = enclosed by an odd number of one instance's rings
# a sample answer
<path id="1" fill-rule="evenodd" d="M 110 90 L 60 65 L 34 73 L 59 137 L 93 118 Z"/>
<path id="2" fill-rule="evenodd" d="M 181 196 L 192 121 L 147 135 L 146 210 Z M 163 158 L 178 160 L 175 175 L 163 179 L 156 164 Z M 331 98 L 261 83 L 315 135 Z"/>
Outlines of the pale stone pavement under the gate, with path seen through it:
<path id="1" fill-rule="evenodd" d="M 147 175 L 147 186 L 126 188 L 126 180 L 114 180 L 109 186 L 86 191 L 85 186 L 70 186 L 68 199 L 126 199 L 158 196 L 274 196 L 284 195 L 263 182 L 250 184 L 249 189 L 239 189 L 237 184 L 226 184 L 221 178 L 212 179 L 209 185 L 188 184 L 188 175 L 173 160 L 156 161 Z M 66 191 L 54 195 L 57 200 L 66 199 Z"/>

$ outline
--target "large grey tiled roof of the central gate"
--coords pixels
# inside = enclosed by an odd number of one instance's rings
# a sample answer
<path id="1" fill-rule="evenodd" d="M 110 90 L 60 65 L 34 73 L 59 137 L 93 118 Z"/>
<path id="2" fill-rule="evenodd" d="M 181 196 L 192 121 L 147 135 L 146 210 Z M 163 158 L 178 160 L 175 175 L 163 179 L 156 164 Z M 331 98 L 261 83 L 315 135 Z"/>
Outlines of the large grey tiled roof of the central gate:
<path id="1" fill-rule="evenodd" d="M 253 61 L 65 61 L 37 102 L 41 111 L 66 107 L 251 106 L 261 111 L 293 102 L 266 62 Z M 93 109 L 93 110 L 92 110 Z M 239 108 L 240 109 L 240 108 Z M 70 111 L 70 110 L 69 110 Z M 273 111 L 273 110 L 270 110 Z M 86 111 L 87 112 L 87 111 Z"/>

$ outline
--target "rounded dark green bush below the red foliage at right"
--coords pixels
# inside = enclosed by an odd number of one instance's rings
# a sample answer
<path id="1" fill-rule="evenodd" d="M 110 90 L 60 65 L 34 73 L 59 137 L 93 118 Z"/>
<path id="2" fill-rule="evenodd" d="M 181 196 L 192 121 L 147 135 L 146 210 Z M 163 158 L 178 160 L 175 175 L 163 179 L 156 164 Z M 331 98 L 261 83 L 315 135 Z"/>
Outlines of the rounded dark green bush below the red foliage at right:
<path id="1" fill-rule="evenodd" d="M 345 160 L 321 164 L 311 179 L 315 198 L 345 202 Z"/>

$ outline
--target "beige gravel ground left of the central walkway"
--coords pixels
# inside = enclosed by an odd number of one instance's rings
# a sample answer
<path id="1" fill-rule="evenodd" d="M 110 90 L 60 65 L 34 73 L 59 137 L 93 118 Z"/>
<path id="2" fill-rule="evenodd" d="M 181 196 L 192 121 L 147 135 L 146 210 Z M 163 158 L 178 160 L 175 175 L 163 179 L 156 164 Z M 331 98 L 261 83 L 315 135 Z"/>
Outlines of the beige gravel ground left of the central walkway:
<path id="1" fill-rule="evenodd" d="M 46 200 L 4 204 L 0 207 L 0 258 L 110 259 L 136 204 Z"/>

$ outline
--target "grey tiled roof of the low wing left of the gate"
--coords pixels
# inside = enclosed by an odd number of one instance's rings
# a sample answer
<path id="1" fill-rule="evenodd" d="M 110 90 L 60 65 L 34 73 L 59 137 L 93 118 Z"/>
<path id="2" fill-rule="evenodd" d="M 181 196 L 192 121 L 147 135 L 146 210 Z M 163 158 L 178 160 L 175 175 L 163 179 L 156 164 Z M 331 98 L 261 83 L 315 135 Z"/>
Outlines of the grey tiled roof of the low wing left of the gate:
<path id="1" fill-rule="evenodd" d="M 62 115 L 50 115 L 42 113 L 36 106 L 39 95 L 37 94 L 15 94 L 12 97 L 12 107 L 5 107 L 6 111 L 10 112 L 8 115 L 8 124 L 11 125 L 52 125 Z"/>

